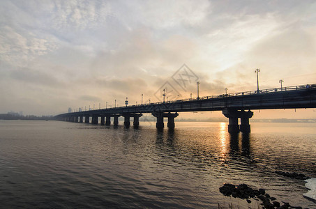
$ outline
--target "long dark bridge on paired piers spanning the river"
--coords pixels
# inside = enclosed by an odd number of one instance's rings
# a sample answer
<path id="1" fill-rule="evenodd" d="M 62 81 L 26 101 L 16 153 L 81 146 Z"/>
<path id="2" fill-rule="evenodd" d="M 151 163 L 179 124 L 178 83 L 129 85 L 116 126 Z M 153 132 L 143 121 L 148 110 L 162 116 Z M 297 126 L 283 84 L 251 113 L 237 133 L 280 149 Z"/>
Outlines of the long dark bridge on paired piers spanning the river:
<path id="1" fill-rule="evenodd" d="M 114 126 L 119 125 L 119 117 L 124 117 L 124 126 L 130 127 L 130 118 L 134 118 L 133 125 L 140 125 L 142 114 L 152 114 L 156 117 L 157 128 L 164 127 L 164 118 L 168 118 L 167 127 L 175 127 L 174 118 L 178 112 L 185 111 L 222 111 L 228 118 L 228 132 L 250 132 L 249 118 L 254 109 L 299 109 L 316 107 L 316 84 L 301 86 L 287 86 L 283 88 L 269 88 L 259 91 L 244 91 L 221 95 L 204 96 L 168 102 L 154 102 L 149 104 L 130 105 L 89 111 L 77 111 L 59 114 L 54 118 L 59 121 L 76 123 L 110 125 L 111 117 Z M 239 118 L 241 124 L 239 125 Z"/>

